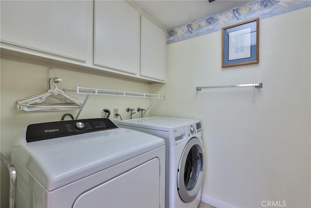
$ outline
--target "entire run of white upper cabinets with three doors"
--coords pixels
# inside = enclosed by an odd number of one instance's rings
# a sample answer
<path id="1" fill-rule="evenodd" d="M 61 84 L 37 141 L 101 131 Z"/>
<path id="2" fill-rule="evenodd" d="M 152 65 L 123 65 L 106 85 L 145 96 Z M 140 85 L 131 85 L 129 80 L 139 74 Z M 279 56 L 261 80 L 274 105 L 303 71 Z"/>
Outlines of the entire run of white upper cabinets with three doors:
<path id="1" fill-rule="evenodd" d="M 1 57 L 165 82 L 166 32 L 131 1 L 1 0 Z"/>

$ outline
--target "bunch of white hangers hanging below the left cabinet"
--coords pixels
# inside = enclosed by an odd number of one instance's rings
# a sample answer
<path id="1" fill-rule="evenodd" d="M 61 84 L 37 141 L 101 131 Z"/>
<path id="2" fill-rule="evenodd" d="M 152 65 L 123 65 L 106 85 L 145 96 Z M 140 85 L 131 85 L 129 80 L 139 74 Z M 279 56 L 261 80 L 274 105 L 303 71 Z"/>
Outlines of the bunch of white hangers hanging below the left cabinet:
<path id="1" fill-rule="evenodd" d="M 55 83 L 62 81 L 58 77 L 48 79 L 48 91 L 31 95 L 17 100 L 17 109 L 21 111 L 49 111 L 49 110 L 79 110 L 82 108 L 83 102 L 76 98 L 66 95 L 64 91 L 59 90 Z M 49 96 L 62 98 L 65 103 L 43 104 Z"/>

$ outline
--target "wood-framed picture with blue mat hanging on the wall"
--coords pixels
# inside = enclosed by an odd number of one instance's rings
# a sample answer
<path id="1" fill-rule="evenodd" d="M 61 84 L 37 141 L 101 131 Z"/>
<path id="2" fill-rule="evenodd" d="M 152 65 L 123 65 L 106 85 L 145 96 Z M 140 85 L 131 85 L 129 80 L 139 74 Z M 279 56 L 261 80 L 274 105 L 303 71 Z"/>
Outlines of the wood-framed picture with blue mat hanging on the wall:
<path id="1" fill-rule="evenodd" d="M 259 18 L 222 29 L 222 67 L 259 63 Z"/>

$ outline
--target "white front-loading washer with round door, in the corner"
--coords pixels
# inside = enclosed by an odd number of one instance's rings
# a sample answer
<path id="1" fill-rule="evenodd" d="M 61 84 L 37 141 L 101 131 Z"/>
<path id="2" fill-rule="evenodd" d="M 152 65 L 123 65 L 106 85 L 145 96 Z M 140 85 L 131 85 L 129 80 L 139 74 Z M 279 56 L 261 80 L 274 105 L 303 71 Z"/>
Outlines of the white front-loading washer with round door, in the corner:
<path id="1" fill-rule="evenodd" d="M 197 208 L 204 171 L 200 120 L 149 117 L 118 121 L 118 126 L 164 139 L 167 155 L 166 206 Z"/>

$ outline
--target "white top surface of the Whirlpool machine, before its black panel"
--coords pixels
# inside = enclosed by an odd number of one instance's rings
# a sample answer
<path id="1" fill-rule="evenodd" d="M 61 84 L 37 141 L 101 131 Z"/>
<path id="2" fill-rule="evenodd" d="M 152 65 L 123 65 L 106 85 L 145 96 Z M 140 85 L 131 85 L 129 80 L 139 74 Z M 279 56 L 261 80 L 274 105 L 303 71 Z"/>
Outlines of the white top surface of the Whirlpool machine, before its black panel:
<path id="1" fill-rule="evenodd" d="M 163 145 L 159 137 L 118 128 L 24 143 L 12 155 L 51 191 Z"/>

